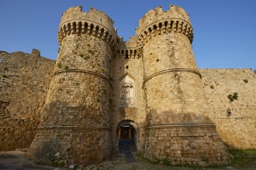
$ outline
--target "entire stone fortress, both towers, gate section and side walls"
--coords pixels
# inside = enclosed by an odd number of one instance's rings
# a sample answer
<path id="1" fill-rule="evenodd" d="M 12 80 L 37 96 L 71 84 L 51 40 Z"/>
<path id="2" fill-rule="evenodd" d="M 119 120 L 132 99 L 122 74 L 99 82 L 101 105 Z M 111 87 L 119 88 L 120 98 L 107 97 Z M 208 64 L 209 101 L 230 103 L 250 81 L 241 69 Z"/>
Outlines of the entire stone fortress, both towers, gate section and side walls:
<path id="1" fill-rule="evenodd" d="M 128 42 L 104 12 L 69 8 L 57 40 L 56 62 L 0 51 L 1 151 L 89 165 L 130 138 L 154 162 L 205 167 L 229 163 L 227 148 L 256 148 L 255 73 L 199 69 L 183 8 L 150 10 Z"/>

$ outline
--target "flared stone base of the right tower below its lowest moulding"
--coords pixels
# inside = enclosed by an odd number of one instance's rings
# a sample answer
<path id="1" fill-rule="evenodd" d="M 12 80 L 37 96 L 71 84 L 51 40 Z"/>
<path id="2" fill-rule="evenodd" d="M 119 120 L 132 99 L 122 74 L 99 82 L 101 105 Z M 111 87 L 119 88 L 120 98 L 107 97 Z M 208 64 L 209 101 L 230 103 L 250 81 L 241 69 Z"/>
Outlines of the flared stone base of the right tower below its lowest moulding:
<path id="1" fill-rule="evenodd" d="M 227 149 L 212 126 L 155 126 L 150 127 L 147 133 L 150 143 L 146 144 L 146 154 L 154 162 L 192 166 L 225 165 L 230 162 Z"/>

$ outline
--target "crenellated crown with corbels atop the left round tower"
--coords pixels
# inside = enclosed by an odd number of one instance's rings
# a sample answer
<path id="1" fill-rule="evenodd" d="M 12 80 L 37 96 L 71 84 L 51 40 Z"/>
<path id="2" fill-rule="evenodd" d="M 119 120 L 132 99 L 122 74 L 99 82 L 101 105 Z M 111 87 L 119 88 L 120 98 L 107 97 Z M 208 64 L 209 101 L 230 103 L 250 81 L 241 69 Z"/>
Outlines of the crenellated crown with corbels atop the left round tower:
<path id="1" fill-rule="evenodd" d="M 71 34 L 88 34 L 108 42 L 112 49 L 116 44 L 114 22 L 104 12 L 90 8 L 90 12 L 82 12 L 81 6 L 72 7 L 63 13 L 58 31 L 58 42 Z"/>

